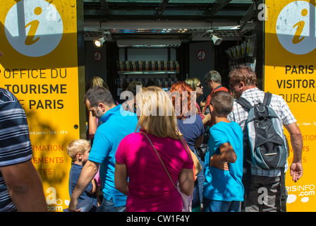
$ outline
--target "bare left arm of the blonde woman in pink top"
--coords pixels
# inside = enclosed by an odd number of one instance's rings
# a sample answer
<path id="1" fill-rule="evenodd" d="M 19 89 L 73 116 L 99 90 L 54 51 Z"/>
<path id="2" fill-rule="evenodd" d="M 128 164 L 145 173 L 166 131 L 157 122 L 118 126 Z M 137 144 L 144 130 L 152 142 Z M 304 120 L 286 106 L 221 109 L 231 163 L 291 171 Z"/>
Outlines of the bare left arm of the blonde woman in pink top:
<path id="1" fill-rule="evenodd" d="M 125 164 L 115 162 L 114 172 L 115 189 L 121 191 L 124 195 L 128 194 L 128 172 Z"/>

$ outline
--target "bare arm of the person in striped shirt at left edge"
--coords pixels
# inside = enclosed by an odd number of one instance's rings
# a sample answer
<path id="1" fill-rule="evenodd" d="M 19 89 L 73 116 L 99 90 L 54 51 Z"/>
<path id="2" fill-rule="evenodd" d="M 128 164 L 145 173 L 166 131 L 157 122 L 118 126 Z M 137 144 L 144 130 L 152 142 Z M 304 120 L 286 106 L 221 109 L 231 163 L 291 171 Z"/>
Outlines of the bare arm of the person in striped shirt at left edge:
<path id="1" fill-rule="evenodd" d="M 0 169 L 19 212 L 47 212 L 42 181 L 31 160 Z"/>

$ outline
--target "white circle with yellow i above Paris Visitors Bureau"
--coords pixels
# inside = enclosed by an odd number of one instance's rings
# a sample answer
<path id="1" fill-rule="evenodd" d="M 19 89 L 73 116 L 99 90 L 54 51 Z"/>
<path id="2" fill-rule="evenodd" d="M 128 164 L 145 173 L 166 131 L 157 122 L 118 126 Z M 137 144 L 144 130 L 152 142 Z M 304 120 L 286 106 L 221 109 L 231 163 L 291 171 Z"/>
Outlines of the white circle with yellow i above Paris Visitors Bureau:
<path id="1" fill-rule="evenodd" d="M 307 1 L 293 1 L 277 18 L 277 37 L 293 54 L 307 54 L 316 48 L 315 6 Z"/>

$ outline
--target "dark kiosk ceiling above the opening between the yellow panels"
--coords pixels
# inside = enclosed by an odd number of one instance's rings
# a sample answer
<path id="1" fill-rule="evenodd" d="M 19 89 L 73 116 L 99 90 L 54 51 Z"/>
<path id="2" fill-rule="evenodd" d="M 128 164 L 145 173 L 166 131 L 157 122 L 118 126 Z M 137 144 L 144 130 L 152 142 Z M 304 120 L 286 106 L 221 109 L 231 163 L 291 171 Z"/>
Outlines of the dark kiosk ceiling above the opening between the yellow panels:
<path id="1" fill-rule="evenodd" d="M 232 30 L 254 11 L 255 4 L 253 0 L 84 0 L 85 37 L 108 31 L 114 40 L 122 35 L 193 39 L 209 37 L 209 29 L 216 35 L 239 35 L 249 28 Z M 254 17 L 255 13 L 247 19 L 251 22 Z"/>

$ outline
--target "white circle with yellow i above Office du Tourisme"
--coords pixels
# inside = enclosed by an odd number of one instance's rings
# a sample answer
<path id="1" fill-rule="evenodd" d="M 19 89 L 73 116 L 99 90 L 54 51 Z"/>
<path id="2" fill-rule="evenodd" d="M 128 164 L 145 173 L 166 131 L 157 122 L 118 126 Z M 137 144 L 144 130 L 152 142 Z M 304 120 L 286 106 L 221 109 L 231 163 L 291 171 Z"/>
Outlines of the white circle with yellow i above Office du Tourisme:
<path id="1" fill-rule="evenodd" d="M 63 36 L 63 21 L 53 4 L 24 0 L 12 6 L 4 22 L 11 46 L 28 57 L 42 57 L 53 51 Z"/>

